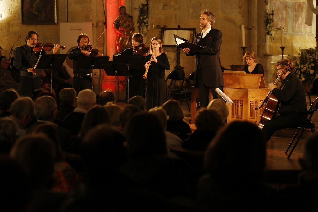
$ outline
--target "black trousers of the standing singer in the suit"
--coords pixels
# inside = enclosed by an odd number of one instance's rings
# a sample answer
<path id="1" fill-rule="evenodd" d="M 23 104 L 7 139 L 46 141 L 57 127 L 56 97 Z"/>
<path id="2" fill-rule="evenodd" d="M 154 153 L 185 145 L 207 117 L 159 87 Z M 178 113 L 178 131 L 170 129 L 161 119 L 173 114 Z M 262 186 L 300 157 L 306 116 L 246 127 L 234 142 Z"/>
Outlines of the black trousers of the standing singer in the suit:
<path id="1" fill-rule="evenodd" d="M 214 91 L 217 87 L 206 87 L 203 83 L 202 69 L 197 69 L 197 86 L 199 88 L 200 107 L 207 107 L 209 105 L 209 92 L 211 90 L 213 99 L 223 99 L 217 92 Z M 223 86 L 218 87 L 223 92 Z"/>

